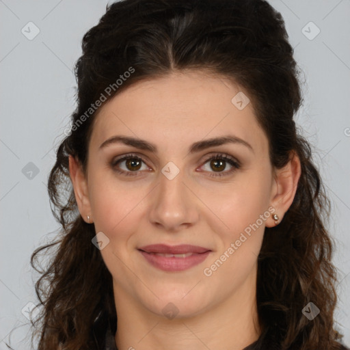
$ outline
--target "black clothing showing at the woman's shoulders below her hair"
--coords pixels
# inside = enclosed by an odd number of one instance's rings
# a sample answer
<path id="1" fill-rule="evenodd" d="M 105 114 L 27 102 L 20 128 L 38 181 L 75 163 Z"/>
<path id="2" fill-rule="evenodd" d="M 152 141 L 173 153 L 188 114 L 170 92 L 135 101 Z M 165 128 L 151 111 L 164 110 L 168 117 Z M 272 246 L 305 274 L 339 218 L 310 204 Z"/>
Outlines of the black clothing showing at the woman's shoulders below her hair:
<path id="1" fill-rule="evenodd" d="M 116 341 L 114 340 L 114 334 L 116 334 L 116 322 L 109 321 L 109 323 L 105 323 L 104 329 L 103 323 L 100 323 L 94 328 L 94 334 L 96 342 L 98 342 L 98 350 L 118 350 L 116 347 Z M 340 349 L 350 350 L 344 345 L 342 345 Z M 251 345 L 248 345 L 243 350 L 280 350 L 280 348 L 278 341 L 276 341 L 269 332 L 265 331 L 261 334 L 258 340 Z"/>

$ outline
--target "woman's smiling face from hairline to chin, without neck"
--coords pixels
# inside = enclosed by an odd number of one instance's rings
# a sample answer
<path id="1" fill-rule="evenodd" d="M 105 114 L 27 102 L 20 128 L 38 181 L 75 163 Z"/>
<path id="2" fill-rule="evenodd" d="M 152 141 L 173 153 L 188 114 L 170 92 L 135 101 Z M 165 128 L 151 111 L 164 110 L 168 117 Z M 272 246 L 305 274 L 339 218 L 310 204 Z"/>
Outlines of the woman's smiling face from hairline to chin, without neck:
<path id="1" fill-rule="evenodd" d="M 189 316 L 254 295 L 264 229 L 278 208 L 268 140 L 243 94 L 220 77 L 173 73 L 136 83 L 100 109 L 79 210 L 103 232 L 117 309 L 120 300 Z M 232 142 L 207 143 L 221 137 Z M 140 250 L 157 244 L 207 252 Z"/>

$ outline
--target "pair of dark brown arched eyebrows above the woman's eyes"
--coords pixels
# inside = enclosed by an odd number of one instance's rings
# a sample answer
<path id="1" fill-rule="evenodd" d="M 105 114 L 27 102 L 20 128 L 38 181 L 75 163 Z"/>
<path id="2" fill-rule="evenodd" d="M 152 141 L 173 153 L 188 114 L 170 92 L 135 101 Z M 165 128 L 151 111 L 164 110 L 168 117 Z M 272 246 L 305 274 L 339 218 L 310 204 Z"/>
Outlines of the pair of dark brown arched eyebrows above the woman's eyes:
<path id="1" fill-rule="evenodd" d="M 154 144 L 151 144 L 150 142 L 147 142 L 144 139 L 138 139 L 136 137 L 130 137 L 130 136 L 112 136 L 100 145 L 100 149 L 106 146 L 109 146 L 110 144 L 116 144 L 116 143 L 122 143 L 128 146 L 139 148 L 140 150 L 148 150 L 150 152 L 157 153 L 157 146 L 155 146 Z M 206 148 L 210 148 L 213 146 L 221 146 L 223 144 L 229 144 L 229 143 L 241 144 L 249 148 L 254 153 L 254 150 L 250 144 L 248 144 L 243 139 L 233 135 L 213 137 L 211 139 L 204 139 L 202 141 L 195 142 L 189 148 L 189 153 L 199 152 Z"/>

